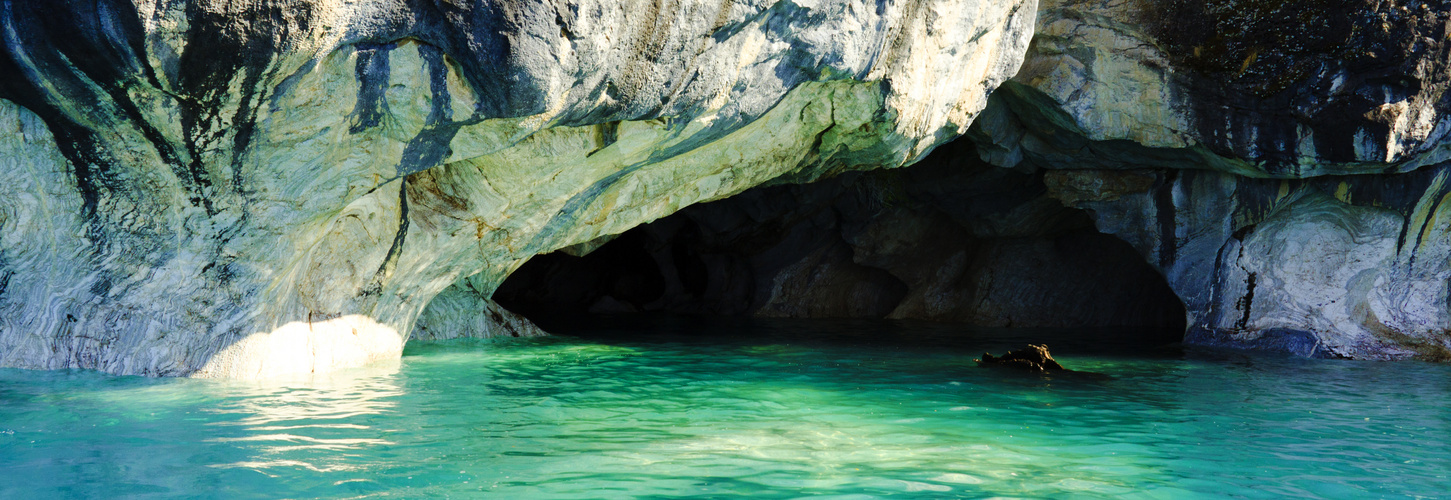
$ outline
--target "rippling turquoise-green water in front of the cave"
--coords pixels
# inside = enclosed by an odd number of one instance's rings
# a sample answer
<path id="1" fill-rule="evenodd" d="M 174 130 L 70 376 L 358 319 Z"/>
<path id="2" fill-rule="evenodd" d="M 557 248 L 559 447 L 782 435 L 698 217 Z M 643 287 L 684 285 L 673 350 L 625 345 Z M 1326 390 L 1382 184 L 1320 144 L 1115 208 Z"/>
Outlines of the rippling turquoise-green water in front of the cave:
<path id="1" fill-rule="evenodd" d="M 0 370 L 0 499 L 1445 497 L 1451 367 L 688 320 L 244 384 Z M 1069 368 L 977 368 L 1055 342 Z"/>

